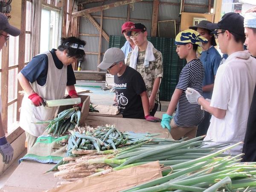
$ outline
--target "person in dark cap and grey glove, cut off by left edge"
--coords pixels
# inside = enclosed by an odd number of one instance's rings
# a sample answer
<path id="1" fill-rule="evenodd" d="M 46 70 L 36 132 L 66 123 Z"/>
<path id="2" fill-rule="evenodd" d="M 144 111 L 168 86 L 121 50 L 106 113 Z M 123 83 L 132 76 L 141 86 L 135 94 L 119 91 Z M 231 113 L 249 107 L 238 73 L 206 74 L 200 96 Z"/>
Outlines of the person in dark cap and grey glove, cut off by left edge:
<path id="1" fill-rule="evenodd" d="M 9 40 L 9 35 L 18 36 L 20 35 L 20 29 L 11 26 L 8 22 L 6 15 L 0 13 L 0 50 L 6 41 Z M 0 113 L 2 113 L 2 100 L 0 97 Z M 3 131 L 2 118 L 0 114 L 0 154 L 3 156 L 3 162 L 8 164 L 11 162 L 13 157 L 13 148 L 10 143 L 7 142 L 5 132 Z"/>

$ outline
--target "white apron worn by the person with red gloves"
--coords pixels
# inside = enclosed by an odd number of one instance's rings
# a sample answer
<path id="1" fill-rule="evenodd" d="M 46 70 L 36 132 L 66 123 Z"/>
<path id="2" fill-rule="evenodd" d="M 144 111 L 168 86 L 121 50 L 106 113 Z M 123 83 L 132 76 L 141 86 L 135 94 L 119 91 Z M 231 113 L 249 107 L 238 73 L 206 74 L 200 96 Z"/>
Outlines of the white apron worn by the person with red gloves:
<path id="1" fill-rule="evenodd" d="M 31 87 L 45 100 L 63 99 L 67 85 L 67 66 L 63 65 L 58 69 L 53 61 L 52 54 L 44 52 L 48 56 L 48 72 L 46 84 L 40 86 L 37 81 L 31 84 Z M 32 101 L 25 94 L 21 104 L 20 127 L 35 137 L 43 134 L 48 124 L 35 124 L 32 122 L 45 121 L 54 117 L 57 107 L 44 107 L 43 105 L 35 107 Z"/>

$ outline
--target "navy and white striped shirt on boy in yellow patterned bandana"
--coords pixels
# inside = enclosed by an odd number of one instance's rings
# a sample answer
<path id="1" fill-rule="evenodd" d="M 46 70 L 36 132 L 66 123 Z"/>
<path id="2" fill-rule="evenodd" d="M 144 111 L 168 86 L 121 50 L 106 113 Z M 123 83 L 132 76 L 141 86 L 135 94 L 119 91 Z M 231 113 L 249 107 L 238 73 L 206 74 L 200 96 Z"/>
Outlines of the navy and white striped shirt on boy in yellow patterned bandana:
<path id="1" fill-rule="evenodd" d="M 182 89 L 183 93 L 180 96 L 177 111 L 173 117 L 174 122 L 180 127 L 198 126 L 204 119 L 204 111 L 200 105 L 191 104 L 186 99 L 186 89 L 191 87 L 203 94 L 202 83 L 204 79 L 204 66 L 199 59 L 194 59 L 187 63 L 180 72 L 179 82 L 176 86 Z"/>

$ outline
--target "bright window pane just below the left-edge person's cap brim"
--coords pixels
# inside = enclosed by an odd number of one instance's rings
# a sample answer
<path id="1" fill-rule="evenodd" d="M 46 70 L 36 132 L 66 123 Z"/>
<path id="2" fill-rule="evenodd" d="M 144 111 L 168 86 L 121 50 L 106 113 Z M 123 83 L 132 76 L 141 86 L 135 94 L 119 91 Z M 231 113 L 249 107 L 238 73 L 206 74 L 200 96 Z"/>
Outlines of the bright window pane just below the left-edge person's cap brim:
<path id="1" fill-rule="evenodd" d="M 19 36 L 9 38 L 9 67 L 18 64 Z"/>

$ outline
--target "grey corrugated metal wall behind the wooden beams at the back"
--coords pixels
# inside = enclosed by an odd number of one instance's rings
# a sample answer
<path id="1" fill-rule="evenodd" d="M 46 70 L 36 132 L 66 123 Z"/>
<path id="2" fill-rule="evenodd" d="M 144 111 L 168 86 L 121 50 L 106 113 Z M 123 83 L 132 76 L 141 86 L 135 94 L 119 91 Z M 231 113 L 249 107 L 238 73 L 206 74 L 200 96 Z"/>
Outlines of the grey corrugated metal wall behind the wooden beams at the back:
<path id="1" fill-rule="evenodd" d="M 208 2 L 209 0 L 185 0 L 185 4 L 195 5 L 195 6 L 185 6 L 185 12 L 196 12 L 205 13 L 208 12 Z M 79 0 L 78 3 L 83 2 Z M 106 5 L 109 3 L 114 3 L 116 0 L 107 0 L 98 3 L 88 3 L 85 4 L 85 9 Z M 213 0 L 212 0 L 213 2 Z M 198 6 L 197 6 L 198 5 Z M 143 23 L 147 27 L 148 34 L 151 30 L 151 17 L 152 17 L 152 6 L 153 0 L 146 0 L 138 3 L 131 4 L 130 9 L 130 21 L 134 23 Z M 203 7 L 205 6 L 205 7 Z M 103 11 L 103 17 L 115 17 L 115 18 L 103 18 L 102 29 L 108 35 L 122 35 L 121 26 L 126 21 L 128 12 L 128 5 L 119 6 Z M 158 20 L 175 20 L 176 21 L 176 31 L 180 28 L 180 0 L 160 0 Z M 100 24 L 101 15 L 100 12 L 95 12 L 91 14 L 97 23 Z M 135 20 L 134 20 L 135 19 Z M 85 17 L 80 17 L 79 34 L 99 34 L 93 24 Z M 99 36 L 84 36 L 79 35 L 79 38 L 87 42 L 86 52 L 98 53 L 99 50 Z M 102 48 L 101 52 L 104 53 L 108 49 L 108 41 L 102 37 Z M 101 55 L 101 61 L 103 56 Z M 98 55 L 96 54 L 86 54 L 85 61 L 82 63 L 82 70 L 97 70 L 97 60 Z"/>

